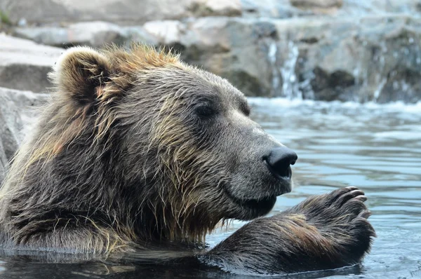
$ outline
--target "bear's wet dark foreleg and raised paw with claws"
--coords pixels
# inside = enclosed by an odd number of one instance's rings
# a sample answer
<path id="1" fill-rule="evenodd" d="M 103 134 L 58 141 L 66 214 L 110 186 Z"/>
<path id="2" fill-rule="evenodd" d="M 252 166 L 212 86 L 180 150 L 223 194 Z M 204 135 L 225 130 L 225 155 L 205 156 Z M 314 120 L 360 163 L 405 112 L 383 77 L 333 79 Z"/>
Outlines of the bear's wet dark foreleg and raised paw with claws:
<path id="1" fill-rule="evenodd" d="M 254 273 L 296 273 L 357 264 L 375 231 L 355 187 L 312 196 L 279 215 L 243 226 L 203 260 Z"/>

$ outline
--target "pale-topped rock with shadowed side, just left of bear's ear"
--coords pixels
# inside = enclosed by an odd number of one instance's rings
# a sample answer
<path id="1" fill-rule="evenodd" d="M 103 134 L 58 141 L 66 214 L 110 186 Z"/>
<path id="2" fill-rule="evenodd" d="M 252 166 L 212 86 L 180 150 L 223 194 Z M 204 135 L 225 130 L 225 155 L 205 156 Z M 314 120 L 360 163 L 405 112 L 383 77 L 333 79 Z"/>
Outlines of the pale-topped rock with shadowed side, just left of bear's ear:
<path id="1" fill-rule="evenodd" d="M 47 73 L 63 52 L 32 41 L 0 34 L 0 86 L 46 92 Z"/>

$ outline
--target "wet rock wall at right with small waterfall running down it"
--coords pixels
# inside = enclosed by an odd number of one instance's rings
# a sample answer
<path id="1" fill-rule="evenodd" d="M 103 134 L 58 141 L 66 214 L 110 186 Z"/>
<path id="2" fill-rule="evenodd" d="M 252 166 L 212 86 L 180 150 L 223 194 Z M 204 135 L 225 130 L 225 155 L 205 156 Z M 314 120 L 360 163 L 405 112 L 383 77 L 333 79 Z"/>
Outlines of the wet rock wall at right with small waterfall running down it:
<path id="1" fill-rule="evenodd" d="M 420 18 L 405 15 L 370 16 L 358 22 L 351 18 L 277 22 L 275 64 L 281 68 L 280 76 L 288 68 L 294 77 L 293 82 L 283 80 L 283 89 L 290 83 L 287 88 L 293 88 L 293 95 L 316 100 L 417 102 L 421 100 L 416 74 L 421 72 L 419 25 Z M 288 62 L 293 67 L 287 67 Z M 283 90 L 280 95 L 291 93 Z"/>

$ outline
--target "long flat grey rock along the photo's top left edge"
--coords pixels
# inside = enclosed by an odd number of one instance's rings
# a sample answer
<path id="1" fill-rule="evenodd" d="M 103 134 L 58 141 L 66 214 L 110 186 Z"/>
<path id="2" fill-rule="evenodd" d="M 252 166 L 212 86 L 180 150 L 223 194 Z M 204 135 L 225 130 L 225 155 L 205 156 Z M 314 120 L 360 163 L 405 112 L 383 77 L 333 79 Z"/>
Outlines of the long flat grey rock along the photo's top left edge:
<path id="1" fill-rule="evenodd" d="M 0 9 L 13 22 L 29 24 L 107 21 L 139 25 L 150 20 L 175 20 L 208 15 L 241 15 L 239 0 L 2 0 Z"/>

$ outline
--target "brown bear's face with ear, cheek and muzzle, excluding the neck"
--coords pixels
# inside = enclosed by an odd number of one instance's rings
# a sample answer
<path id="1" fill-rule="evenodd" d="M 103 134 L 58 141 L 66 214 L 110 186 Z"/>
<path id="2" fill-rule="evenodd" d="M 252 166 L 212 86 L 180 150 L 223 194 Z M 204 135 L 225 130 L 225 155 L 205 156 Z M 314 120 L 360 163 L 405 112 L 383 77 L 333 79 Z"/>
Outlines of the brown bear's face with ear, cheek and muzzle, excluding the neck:
<path id="1" fill-rule="evenodd" d="M 95 139 L 118 144 L 130 198 L 157 219 L 253 219 L 291 189 L 295 154 L 282 161 L 289 150 L 249 118 L 246 97 L 178 57 L 76 48 L 53 79 L 95 118 Z"/>

